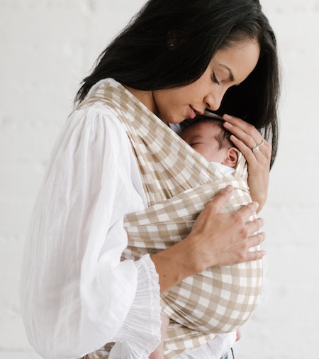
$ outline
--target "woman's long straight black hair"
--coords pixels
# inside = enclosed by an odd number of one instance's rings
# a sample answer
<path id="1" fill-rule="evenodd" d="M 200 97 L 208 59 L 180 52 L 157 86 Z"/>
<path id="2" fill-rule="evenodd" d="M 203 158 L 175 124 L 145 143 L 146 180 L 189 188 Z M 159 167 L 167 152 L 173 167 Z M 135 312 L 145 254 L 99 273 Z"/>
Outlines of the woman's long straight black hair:
<path id="1" fill-rule="evenodd" d="M 216 51 L 256 39 L 257 66 L 226 92 L 218 114 L 243 118 L 272 143 L 278 142 L 279 62 L 276 39 L 258 0 L 150 0 L 101 53 L 76 101 L 111 77 L 140 90 L 181 87 L 196 81 Z"/>

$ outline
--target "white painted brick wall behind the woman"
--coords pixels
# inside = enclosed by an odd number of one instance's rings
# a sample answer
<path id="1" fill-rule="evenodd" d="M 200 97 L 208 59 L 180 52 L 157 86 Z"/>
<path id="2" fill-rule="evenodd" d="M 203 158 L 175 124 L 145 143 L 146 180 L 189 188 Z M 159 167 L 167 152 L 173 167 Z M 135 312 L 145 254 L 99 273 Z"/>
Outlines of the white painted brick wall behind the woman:
<path id="1" fill-rule="evenodd" d="M 143 3 L 0 0 L 0 358 L 39 358 L 26 339 L 18 304 L 30 211 L 79 81 Z M 283 67 L 279 157 L 262 211 L 272 297 L 243 326 L 235 353 L 237 359 L 315 358 L 319 1 L 262 4 L 276 30 Z"/>

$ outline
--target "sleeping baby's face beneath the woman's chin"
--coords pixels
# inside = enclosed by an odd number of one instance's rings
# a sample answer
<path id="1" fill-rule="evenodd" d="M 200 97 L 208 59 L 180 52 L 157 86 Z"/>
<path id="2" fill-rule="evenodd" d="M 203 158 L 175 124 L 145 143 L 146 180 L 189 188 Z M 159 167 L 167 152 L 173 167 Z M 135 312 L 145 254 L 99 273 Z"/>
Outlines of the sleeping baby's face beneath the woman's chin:
<path id="1" fill-rule="evenodd" d="M 186 128 L 181 138 L 209 162 L 223 163 L 228 156 L 228 149 L 218 149 L 219 144 L 216 140 L 218 131 L 219 128 L 209 123 L 199 123 Z"/>

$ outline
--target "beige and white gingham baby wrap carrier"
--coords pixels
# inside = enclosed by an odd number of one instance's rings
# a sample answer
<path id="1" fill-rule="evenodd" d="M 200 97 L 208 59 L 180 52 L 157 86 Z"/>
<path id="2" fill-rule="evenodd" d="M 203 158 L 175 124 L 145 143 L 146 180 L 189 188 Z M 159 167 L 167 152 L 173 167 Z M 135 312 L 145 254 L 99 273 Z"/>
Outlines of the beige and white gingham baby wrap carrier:
<path id="1" fill-rule="evenodd" d="M 128 214 L 128 248 L 123 259 L 137 260 L 181 241 L 205 204 L 228 184 L 232 212 L 251 201 L 247 166 L 241 156 L 235 177 L 227 178 L 113 79 L 102 82 L 80 105 L 101 103 L 123 123 L 140 167 L 147 208 Z M 259 248 L 258 248 L 259 249 Z M 212 267 L 162 294 L 162 312 L 171 319 L 165 358 L 196 348 L 216 333 L 239 328 L 254 311 L 262 289 L 262 260 Z M 108 358 L 109 346 L 87 358 Z"/>

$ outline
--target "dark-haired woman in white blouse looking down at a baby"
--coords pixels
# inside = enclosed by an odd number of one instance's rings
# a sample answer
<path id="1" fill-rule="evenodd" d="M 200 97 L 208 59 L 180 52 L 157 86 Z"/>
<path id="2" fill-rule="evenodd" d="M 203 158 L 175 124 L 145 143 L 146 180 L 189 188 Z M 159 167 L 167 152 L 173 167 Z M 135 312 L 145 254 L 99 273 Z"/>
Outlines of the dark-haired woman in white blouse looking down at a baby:
<path id="1" fill-rule="evenodd" d="M 103 97 L 106 85 L 128 99 L 120 112 L 136 106 L 136 114 L 159 128 L 205 109 L 236 116 L 223 118 L 247 159 L 254 202 L 221 214 L 233 191 L 226 187 L 184 241 L 121 261 L 128 241 L 123 216 L 150 204 L 145 188 L 156 182 L 146 183 L 128 140 L 130 125 L 119 121 L 113 99 Z M 264 233 L 253 234 L 262 219 L 247 219 L 267 197 L 278 93 L 274 33 L 257 0 L 145 5 L 84 79 L 35 206 L 21 293 L 38 353 L 79 358 L 116 342 L 109 358 L 147 358 L 160 339 L 160 292 L 208 267 L 262 258 L 264 251 L 250 251 L 264 240 Z M 101 101 L 91 101 L 93 95 Z M 203 344 L 194 358 L 215 358 L 212 344 Z"/>

